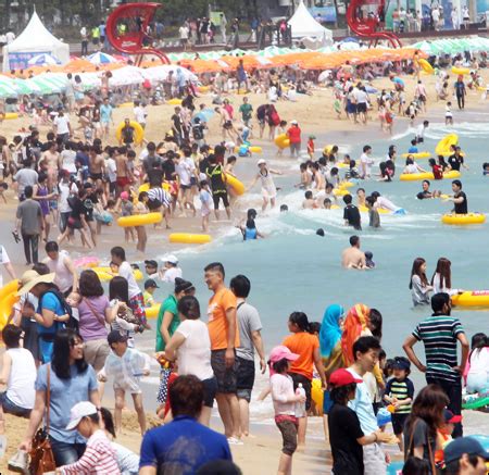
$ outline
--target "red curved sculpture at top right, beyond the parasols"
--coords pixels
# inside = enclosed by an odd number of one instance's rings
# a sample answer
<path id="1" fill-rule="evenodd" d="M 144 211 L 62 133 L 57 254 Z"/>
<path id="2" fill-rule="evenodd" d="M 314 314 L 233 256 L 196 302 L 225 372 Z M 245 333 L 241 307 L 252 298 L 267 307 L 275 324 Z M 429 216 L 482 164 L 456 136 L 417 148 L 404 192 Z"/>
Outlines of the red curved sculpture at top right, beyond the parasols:
<path id="1" fill-rule="evenodd" d="M 363 5 L 377 5 L 376 12 L 371 11 L 366 17 Z M 401 40 L 392 32 L 378 30 L 386 12 L 385 0 L 351 0 L 347 10 L 347 22 L 350 29 L 358 36 L 369 38 L 371 46 L 376 46 L 379 39 L 386 39 L 392 48 L 401 48 Z"/>

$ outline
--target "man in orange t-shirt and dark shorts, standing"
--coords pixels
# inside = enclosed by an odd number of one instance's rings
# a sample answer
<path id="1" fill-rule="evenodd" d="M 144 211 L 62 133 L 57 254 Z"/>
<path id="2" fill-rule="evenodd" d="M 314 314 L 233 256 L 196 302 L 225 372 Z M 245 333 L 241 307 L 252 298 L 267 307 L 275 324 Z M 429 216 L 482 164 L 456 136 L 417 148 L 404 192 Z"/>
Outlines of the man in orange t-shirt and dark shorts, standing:
<path id="1" fill-rule="evenodd" d="M 237 397 L 236 348 L 239 333 L 236 317 L 236 296 L 224 285 L 224 267 L 213 262 L 204 268 L 204 280 L 214 295 L 209 300 L 209 336 L 211 365 L 217 379 L 217 409 L 229 443 L 240 445 L 239 402 Z"/>

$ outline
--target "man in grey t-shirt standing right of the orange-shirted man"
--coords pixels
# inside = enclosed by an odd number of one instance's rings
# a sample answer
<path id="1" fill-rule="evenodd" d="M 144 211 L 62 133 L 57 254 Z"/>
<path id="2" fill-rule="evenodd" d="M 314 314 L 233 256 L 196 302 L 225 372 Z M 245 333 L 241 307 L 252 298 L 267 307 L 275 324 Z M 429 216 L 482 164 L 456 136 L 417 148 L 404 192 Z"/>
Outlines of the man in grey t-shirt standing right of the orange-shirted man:
<path id="1" fill-rule="evenodd" d="M 250 434 L 250 400 L 251 391 L 254 385 L 254 349 L 260 357 L 260 371 L 262 374 L 266 371 L 265 350 L 261 335 L 262 322 L 258 310 L 247 303 L 250 295 L 251 284 L 247 276 L 237 275 L 233 277 L 229 287 L 236 296 L 237 315 L 239 327 L 240 346 L 236 349 L 236 359 L 238 361 L 238 401 L 239 401 L 239 421 L 240 434 L 249 436 Z"/>

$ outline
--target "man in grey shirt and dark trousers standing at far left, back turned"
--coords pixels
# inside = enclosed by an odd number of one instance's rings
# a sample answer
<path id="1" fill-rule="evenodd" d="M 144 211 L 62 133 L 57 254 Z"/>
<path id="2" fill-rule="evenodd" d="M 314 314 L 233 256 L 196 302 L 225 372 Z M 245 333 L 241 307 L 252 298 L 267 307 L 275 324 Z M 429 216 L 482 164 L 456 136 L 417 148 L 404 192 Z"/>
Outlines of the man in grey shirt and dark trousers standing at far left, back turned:
<path id="1" fill-rule="evenodd" d="M 17 234 L 21 228 L 26 264 L 30 265 L 38 263 L 39 235 L 45 229 L 45 218 L 39 202 L 33 200 L 33 187 L 26 186 L 24 195 L 25 201 L 17 207 L 14 233 Z M 30 252 L 33 253 L 32 259 Z"/>

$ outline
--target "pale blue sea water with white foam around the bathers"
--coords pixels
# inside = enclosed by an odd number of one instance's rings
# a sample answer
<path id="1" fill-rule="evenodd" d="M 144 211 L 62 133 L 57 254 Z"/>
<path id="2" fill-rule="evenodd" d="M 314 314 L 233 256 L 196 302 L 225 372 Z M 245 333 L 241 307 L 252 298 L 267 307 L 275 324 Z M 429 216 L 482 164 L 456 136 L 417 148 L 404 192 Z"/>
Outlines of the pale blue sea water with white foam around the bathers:
<path id="1" fill-rule="evenodd" d="M 459 134 L 460 146 L 469 166 L 468 171 L 462 170 L 461 177 L 468 209 L 487 213 L 489 176 L 482 176 L 481 164 L 489 161 L 489 124 L 463 123 L 453 128 L 430 124 L 419 151 L 434 152 L 438 140 L 450 133 Z M 237 274 L 250 278 L 249 301 L 260 311 L 267 351 L 288 335 L 287 321 L 291 312 L 302 311 L 310 321 L 321 322 L 325 309 L 331 303 L 340 303 L 348 310 L 361 302 L 381 312 L 383 347 L 388 358 L 393 358 L 403 355 L 404 339 L 423 317 L 430 314 L 428 308 L 414 310 L 412 305 L 408 286 L 415 258 L 426 259 L 428 278 L 435 271 L 437 260 L 444 257 L 452 262 L 453 288 L 489 288 L 489 222 L 473 226 L 444 225 L 441 215 L 449 212 L 453 203 L 440 199 L 417 200 L 422 182 L 399 180 L 405 162 L 401 153 L 408 150 L 413 134 L 409 130 L 391 140 L 369 142 L 377 163 L 385 160 L 390 143 L 397 145 L 396 177 L 391 183 L 379 183 L 373 178 L 362 182 L 360 186 L 365 188 L 367 195 L 379 191 L 406 210 L 406 215 L 381 214 L 380 229 L 368 228 L 366 213 L 362 213 L 362 232 L 346 227 L 341 201 L 340 210 L 302 210 L 303 190 L 293 188 L 293 184 L 299 182 L 299 162 L 289 161 L 296 174 L 275 178 L 276 185 L 281 188 L 277 207 L 264 215 L 259 213 L 256 220 L 258 229 L 266 236 L 265 239 L 243 242 L 241 233 L 230 223 L 229 228 L 212 243 L 175 252 L 180 259 L 184 277 L 196 285 L 202 318 L 206 320 L 206 303 L 211 295 L 203 282 L 203 267 L 218 261 L 225 266 L 227 283 Z M 338 145 L 340 150 L 348 150 L 352 158 L 359 158 L 365 142 L 339 141 Z M 268 163 L 272 167 L 284 166 L 284 159 L 272 159 Z M 421 159 L 417 163 L 429 170 L 427 159 Z M 242 160 L 237 168 L 238 175 L 239 166 L 244 166 Z M 374 173 L 378 173 L 378 166 L 374 166 Z M 354 195 L 356 188 L 350 191 Z M 451 193 L 451 180 L 431 180 L 431 189 Z M 254 193 L 248 193 L 242 199 L 244 205 L 253 205 L 260 211 L 259 186 Z M 289 211 L 279 213 L 279 204 L 287 204 Z M 315 234 L 319 227 L 324 228 L 325 237 Z M 349 247 L 348 240 L 353 234 L 360 235 L 362 250 L 373 252 L 375 270 L 358 272 L 341 267 L 341 251 Z M 156 300 L 171 291 L 170 286 L 160 289 Z M 489 330 L 487 311 L 454 309 L 453 314 L 462 321 L 468 338 L 476 332 Z M 153 333 L 146 334 L 141 343 L 148 349 L 153 348 Z M 423 345 L 417 345 L 415 350 L 423 361 Z M 416 368 L 412 378 L 418 388 L 425 384 Z M 263 386 L 263 382 L 264 378 L 259 379 L 259 386 Z"/>

